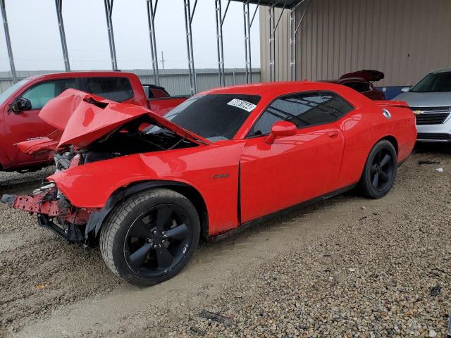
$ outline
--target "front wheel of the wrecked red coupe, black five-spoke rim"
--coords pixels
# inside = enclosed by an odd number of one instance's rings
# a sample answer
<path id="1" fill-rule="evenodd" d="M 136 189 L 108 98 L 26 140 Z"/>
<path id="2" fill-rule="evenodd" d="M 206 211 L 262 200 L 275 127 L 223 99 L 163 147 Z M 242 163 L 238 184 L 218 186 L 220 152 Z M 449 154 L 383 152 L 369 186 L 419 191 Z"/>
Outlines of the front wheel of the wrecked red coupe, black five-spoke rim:
<path id="1" fill-rule="evenodd" d="M 177 275 L 199 242 L 199 215 L 182 194 L 152 189 L 130 196 L 101 228 L 100 251 L 114 274 L 149 287 Z"/>

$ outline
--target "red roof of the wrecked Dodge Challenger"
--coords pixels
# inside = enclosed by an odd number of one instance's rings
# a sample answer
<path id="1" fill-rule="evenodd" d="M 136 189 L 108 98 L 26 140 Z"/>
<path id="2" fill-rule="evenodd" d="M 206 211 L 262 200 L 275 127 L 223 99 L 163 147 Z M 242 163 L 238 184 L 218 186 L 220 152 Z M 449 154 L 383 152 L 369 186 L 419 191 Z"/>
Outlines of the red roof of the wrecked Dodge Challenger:
<path id="1" fill-rule="evenodd" d="M 240 84 L 229 87 L 209 89 L 199 94 L 248 94 L 259 96 L 275 96 L 304 92 L 309 90 L 334 90 L 338 84 L 330 82 L 285 81 L 285 82 L 259 82 Z"/>

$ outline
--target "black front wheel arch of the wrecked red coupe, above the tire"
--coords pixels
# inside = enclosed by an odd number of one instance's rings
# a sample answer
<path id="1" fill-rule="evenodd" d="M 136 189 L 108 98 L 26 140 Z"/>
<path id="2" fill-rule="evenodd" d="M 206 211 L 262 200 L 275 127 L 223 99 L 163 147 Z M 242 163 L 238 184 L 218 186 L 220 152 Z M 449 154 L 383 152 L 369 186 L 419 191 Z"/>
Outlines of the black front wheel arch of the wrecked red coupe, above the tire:
<path id="1" fill-rule="evenodd" d="M 182 194 L 187 199 L 191 201 L 197 210 L 199 215 L 200 225 L 201 225 L 201 236 L 204 239 L 209 237 L 209 218 L 208 211 L 206 208 L 206 203 L 202 194 L 189 184 L 183 182 L 175 181 L 164 181 L 164 180 L 149 180 L 149 181 L 139 181 L 129 184 L 127 187 L 121 187 L 116 189 L 111 196 L 109 196 L 108 201 L 100 211 L 94 211 L 87 222 L 85 228 L 85 238 L 92 239 L 97 238 L 99 231 L 104 224 L 104 220 L 113 211 L 121 201 L 127 199 L 128 197 L 137 194 L 138 192 L 143 192 L 145 190 L 154 188 L 166 188 L 171 189 L 179 194 Z"/>

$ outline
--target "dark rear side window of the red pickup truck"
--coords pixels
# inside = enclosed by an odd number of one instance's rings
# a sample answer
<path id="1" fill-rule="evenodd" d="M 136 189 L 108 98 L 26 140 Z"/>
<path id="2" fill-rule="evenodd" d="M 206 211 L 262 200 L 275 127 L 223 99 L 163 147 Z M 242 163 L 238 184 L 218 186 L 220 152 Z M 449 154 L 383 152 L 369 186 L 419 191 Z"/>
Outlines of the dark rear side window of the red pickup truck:
<path id="1" fill-rule="evenodd" d="M 126 77 L 87 77 L 87 92 L 112 101 L 132 99 L 133 89 Z"/>

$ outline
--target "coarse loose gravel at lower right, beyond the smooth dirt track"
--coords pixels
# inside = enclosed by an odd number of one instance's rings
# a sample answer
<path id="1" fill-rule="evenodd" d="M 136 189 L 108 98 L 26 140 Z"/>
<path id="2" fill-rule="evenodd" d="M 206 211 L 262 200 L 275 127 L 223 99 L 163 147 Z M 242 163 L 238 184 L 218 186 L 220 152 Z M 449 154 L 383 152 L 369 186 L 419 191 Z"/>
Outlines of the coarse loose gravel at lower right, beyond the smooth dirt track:
<path id="1" fill-rule="evenodd" d="M 194 327 L 207 337 L 445 337 L 450 177 L 422 187 L 398 181 L 409 187 L 409 199 L 362 209 L 356 222 L 261 265 L 224 292 L 209 311 L 233 318 L 233 325 L 192 313 L 178 333 Z"/>

